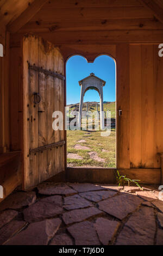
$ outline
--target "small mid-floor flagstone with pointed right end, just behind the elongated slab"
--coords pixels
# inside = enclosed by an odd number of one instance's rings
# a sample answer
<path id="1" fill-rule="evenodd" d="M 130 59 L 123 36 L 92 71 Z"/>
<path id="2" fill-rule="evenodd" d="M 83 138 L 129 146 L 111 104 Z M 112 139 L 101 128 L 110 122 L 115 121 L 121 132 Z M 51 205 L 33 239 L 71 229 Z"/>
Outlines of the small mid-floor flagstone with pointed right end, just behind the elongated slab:
<path id="1" fill-rule="evenodd" d="M 85 208 L 88 206 L 93 206 L 91 202 L 80 197 L 78 194 L 74 194 L 74 196 L 71 196 L 71 197 L 65 197 L 64 201 L 65 201 L 64 208 L 66 210 L 74 210 L 74 209 Z"/>

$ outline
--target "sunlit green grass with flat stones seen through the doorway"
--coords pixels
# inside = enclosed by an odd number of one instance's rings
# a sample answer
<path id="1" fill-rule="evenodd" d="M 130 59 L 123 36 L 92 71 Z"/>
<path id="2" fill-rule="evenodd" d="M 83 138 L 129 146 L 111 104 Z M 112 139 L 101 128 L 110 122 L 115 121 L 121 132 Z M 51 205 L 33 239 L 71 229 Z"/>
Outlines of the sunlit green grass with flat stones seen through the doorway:
<path id="1" fill-rule="evenodd" d="M 104 111 L 107 109 L 111 111 L 111 118 L 115 118 L 115 102 L 105 103 Z M 95 110 L 96 107 L 92 107 L 91 111 Z M 83 139 L 84 142 L 79 142 Z M 78 149 L 74 148 L 77 145 Z M 82 149 L 83 146 L 88 149 Z M 102 137 L 101 131 L 67 131 L 67 153 L 71 156 L 67 157 L 67 166 L 116 167 L 115 127 L 111 128 L 111 135 L 108 137 Z"/>

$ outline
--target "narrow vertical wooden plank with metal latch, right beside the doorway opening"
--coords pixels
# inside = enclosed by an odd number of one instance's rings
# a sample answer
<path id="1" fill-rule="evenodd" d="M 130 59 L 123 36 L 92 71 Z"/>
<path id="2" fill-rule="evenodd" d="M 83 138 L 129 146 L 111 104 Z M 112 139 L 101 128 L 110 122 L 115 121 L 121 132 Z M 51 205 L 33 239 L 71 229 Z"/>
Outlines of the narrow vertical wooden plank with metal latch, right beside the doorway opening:
<path id="1" fill-rule="evenodd" d="M 130 168 L 129 45 L 117 45 L 117 168 Z M 122 109 L 122 115 L 118 115 Z"/>

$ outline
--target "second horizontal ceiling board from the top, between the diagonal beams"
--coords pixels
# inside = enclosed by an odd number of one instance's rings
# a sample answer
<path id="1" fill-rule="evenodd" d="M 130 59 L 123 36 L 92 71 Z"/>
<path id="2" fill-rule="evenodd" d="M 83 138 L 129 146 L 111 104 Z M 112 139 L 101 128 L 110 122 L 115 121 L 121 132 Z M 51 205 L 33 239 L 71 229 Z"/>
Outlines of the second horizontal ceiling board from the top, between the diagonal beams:
<path id="1" fill-rule="evenodd" d="M 77 19 L 126 19 L 152 18 L 145 7 L 50 8 L 41 9 L 32 21 L 57 21 Z"/>

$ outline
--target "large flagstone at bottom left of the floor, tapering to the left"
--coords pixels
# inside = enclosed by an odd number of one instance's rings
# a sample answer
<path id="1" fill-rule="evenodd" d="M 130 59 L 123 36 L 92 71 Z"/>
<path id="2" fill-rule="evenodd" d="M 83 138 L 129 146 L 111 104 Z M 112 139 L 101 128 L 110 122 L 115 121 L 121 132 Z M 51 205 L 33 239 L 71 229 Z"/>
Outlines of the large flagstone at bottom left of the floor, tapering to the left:
<path id="1" fill-rule="evenodd" d="M 31 223 L 27 229 L 12 237 L 5 245 L 47 245 L 60 224 L 59 218 Z"/>

